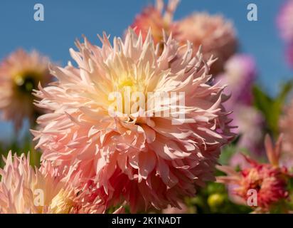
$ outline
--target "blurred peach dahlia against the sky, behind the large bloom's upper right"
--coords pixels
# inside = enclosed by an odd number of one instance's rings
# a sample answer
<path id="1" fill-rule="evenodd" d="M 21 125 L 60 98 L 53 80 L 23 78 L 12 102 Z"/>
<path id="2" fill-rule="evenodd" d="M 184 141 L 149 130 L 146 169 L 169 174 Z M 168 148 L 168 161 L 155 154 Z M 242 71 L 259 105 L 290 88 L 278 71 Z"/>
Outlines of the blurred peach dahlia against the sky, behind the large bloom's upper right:
<path id="1" fill-rule="evenodd" d="M 237 39 L 233 24 L 223 16 L 194 13 L 186 19 L 177 21 L 174 28 L 174 36 L 178 41 L 191 41 L 194 51 L 202 46 L 205 59 L 212 55 L 218 58 L 211 68 L 213 75 L 223 71 L 225 61 L 236 51 Z"/>

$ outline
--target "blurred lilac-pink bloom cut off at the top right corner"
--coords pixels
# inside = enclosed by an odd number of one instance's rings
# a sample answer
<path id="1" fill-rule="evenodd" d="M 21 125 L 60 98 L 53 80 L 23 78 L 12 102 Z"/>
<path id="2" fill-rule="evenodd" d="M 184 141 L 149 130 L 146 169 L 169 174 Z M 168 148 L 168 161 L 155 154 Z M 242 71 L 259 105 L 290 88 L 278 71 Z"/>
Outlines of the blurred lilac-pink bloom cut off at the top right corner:
<path id="1" fill-rule="evenodd" d="M 277 26 L 284 41 L 293 42 L 293 1 L 287 0 L 279 11 Z"/>

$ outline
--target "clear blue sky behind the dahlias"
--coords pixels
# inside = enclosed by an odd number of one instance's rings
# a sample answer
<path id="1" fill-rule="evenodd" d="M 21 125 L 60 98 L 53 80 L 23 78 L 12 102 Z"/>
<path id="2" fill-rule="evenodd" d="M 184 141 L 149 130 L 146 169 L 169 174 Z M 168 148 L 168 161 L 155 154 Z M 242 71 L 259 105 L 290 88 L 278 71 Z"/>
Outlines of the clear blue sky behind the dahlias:
<path id="1" fill-rule="evenodd" d="M 165 0 L 166 1 L 166 0 Z M 132 24 L 134 16 L 150 0 L 50 0 L 0 1 L 0 58 L 16 48 L 37 49 L 52 61 L 65 64 L 70 60 L 68 49 L 75 38 L 85 34 L 93 43 L 97 33 L 106 31 L 121 36 Z M 275 18 L 281 0 L 181 0 L 175 19 L 193 11 L 223 14 L 232 20 L 238 31 L 240 50 L 254 56 L 260 73 L 257 79 L 269 93 L 275 94 L 279 83 L 293 76 L 284 61 L 284 43 L 278 36 Z M 45 8 L 45 21 L 33 20 L 33 6 L 41 3 Z M 247 4 L 255 3 L 258 21 L 247 21 Z M 0 123 L 0 136 L 11 137 L 9 123 Z"/>

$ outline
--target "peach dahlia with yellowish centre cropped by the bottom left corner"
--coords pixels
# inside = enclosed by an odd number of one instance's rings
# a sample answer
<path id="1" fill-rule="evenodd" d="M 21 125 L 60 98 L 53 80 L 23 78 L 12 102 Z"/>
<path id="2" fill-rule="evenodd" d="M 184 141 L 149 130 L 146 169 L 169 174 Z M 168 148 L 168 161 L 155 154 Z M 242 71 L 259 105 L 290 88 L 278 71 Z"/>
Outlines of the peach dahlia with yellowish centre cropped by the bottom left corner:
<path id="1" fill-rule="evenodd" d="M 85 194 L 73 187 L 78 185 L 78 179 L 66 183 L 65 177 L 49 162 L 35 170 L 29 165 L 29 156 L 26 158 L 24 154 L 13 157 L 9 152 L 4 160 L 6 165 L 0 169 L 1 214 L 99 213 L 105 210 L 99 204 L 85 201 Z"/>

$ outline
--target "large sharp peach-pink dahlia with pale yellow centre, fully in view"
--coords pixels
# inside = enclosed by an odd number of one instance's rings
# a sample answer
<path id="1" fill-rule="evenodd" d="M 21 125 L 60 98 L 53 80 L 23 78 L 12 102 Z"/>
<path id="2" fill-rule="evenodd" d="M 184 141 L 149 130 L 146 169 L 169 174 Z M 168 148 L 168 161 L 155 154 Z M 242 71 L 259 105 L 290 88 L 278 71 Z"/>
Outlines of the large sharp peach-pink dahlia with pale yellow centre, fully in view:
<path id="1" fill-rule="evenodd" d="M 201 52 L 192 57 L 190 43 L 179 55 L 171 36 L 161 53 L 150 32 L 143 41 L 131 28 L 125 41 L 114 38 L 113 46 L 106 35 L 101 40 L 102 47 L 86 38 L 78 42 L 79 51 L 70 49 L 78 68 L 53 67 L 58 81 L 36 91 L 38 106 L 52 110 L 32 131 L 36 147 L 43 151 L 42 160 L 71 177 L 80 173 L 92 196 L 107 204 L 125 200 L 132 212 L 178 207 L 181 197 L 213 180 L 220 147 L 233 138 L 223 87 L 207 84 L 213 60 L 204 63 Z M 128 99 L 126 91 L 146 100 L 130 110 L 125 104 L 133 107 L 137 98 Z M 115 103 L 123 115 L 112 115 L 113 92 L 121 95 L 124 108 Z M 182 92 L 183 97 L 173 97 L 170 106 L 164 99 L 154 102 L 154 92 Z"/>

